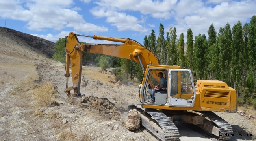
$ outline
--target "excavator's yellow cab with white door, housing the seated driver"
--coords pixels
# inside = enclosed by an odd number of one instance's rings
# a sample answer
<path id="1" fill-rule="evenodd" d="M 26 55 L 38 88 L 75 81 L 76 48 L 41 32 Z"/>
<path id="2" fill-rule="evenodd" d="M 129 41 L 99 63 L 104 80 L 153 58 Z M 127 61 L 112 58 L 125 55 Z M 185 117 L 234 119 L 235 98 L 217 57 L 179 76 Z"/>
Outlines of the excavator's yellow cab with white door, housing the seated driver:
<path id="1" fill-rule="evenodd" d="M 193 107 L 196 98 L 195 87 L 191 71 L 189 69 L 176 69 L 173 66 L 168 68 L 149 67 L 145 73 L 143 89 L 143 104 L 166 105 L 174 107 Z M 155 103 L 150 103 L 154 86 L 160 83 L 158 73 L 162 72 L 167 81 L 167 87 L 154 94 Z M 144 87 L 146 86 L 146 87 Z"/>

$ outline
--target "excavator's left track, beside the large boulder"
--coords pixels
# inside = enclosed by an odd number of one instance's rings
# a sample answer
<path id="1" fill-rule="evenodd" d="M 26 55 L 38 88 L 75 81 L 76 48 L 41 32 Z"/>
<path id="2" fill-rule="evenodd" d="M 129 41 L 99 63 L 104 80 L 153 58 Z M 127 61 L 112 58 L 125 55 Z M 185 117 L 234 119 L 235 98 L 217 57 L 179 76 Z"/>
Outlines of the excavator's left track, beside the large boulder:
<path id="1" fill-rule="evenodd" d="M 169 119 L 169 117 L 167 117 L 164 113 L 156 109 L 142 108 L 141 105 L 129 105 L 128 109 L 129 108 L 136 108 L 139 112 L 141 112 L 141 114 L 143 114 L 141 116 L 142 125 L 162 141 L 179 140 L 180 134 L 176 125 L 174 125 L 173 121 L 171 121 L 171 119 Z M 154 123 L 157 123 L 160 128 L 154 126 L 154 124 L 150 122 L 150 117 L 148 117 L 148 115 L 153 117 Z"/>

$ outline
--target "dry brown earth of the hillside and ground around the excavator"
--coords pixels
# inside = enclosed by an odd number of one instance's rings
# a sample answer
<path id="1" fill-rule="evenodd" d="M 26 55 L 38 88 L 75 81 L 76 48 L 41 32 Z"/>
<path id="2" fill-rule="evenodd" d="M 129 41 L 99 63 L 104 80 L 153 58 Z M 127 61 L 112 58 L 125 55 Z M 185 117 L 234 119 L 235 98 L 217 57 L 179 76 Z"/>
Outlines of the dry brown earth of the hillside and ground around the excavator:
<path id="1" fill-rule="evenodd" d="M 47 58 L 23 38 L 29 36 L 17 38 L 13 32 L 0 32 L 0 140 L 156 141 L 146 130 L 131 132 L 124 125 L 127 106 L 140 103 L 139 87 L 113 85 L 108 82 L 113 79 L 110 74 L 100 74 L 95 80 L 93 74 L 96 78 L 98 72 L 83 69 L 80 91 L 85 96 L 73 101 L 63 92 L 66 78 L 62 64 Z M 89 72 L 90 76 L 86 76 Z M 52 105 L 34 109 L 29 104 L 33 88 L 17 92 L 18 82 L 31 76 L 35 81 L 51 81 L 55 85 L 57 93 Z M 256 127 L 240 114 L 215 113 L 232 125 L 235 134 L 256 135 Z"/>

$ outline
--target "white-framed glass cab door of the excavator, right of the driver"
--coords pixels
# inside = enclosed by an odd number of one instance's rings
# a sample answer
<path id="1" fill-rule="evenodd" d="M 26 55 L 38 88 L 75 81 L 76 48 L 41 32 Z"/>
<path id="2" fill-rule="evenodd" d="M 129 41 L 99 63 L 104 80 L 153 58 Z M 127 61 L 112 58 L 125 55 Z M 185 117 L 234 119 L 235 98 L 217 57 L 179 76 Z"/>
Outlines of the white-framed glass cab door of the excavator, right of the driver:
<path id="1" fill-rule="evenodd" d="M 194 106 L 196 93 L 189 69 L 169 69 L 168 87 L 168 106 Z"/>

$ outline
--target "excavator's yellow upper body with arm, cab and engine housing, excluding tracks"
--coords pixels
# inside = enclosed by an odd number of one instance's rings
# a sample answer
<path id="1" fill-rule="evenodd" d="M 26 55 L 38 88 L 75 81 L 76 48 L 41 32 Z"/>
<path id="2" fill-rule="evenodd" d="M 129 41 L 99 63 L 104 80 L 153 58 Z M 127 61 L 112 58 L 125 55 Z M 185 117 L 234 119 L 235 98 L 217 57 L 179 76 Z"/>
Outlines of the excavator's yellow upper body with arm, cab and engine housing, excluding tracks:
<path id="1" fill-rule="evenodd" d="M 122 42 L 123 44 L 117 45 L 80 43 L 76 34 L 71 32 L 69 36 L 67 36 L 67 43 L 65 47 L 65 51 L 67 52 L 65 76 L 70 76 L 70 63 L 73 81 L 73 85 L 71 87 L 67 87 L 67 89 L 64 90 L 68 96 L 70 95 L 71 90 L 73 90 L 74 96 L 80 95 L 82 52 L 85 51 L 125 58 L 140 63 L 144 69 L 144 78 L 141 83 L 139 92 L 139 98 L 143 108 L 219 112 L 237 111 L 236 90 L 228 87 L 226 83 L 218 80 L 197 80 L 197 82 L 194 84 L 193 78 L 184 78 L 184 75 L 188 76 L 189 73 L 189 76 L 192 77 L 190 70 L 181 69 L 180 66 L 160 65 L 160 61 L 154 52 L 151 49 L 139 44 L 135 40 L 130 40 L 129 38 L 112 38 L 97 35 L 93 36 L 93 38 L 99 40 Z M 166 98 L 166 103 L 150 103 L 150 95 L 147 92 L 146 85 L 154 87 L 154 83 L 160 81 L 158 78 L 159 72 L 164 72 L 164 77 L 168 81 L 165 92 L 163 94 L 159 94 L 161 95 L 161 98 Z M 171 75 L 172 73 L 173 75 Z M 176 75 L 176 79 L 171 78 L 171 76 L 174 77 L 174 74 Z M 191 82 L 185 82 L 191 79 Z M 176 81 L 175 95 L 171 93 L 173 88 L 170 83 L 173 83 L 173 81 Z M 172 105 L 173 102 L 175 103 L 175 101 L 179 100 L 184 103 L 185 106 L 182 106 L 182 104 L 179 106 L 177 103 L 176 105 Z M 191 103 L 191 105 L 186 105 L 186 101 L 187 103 Z"/>

